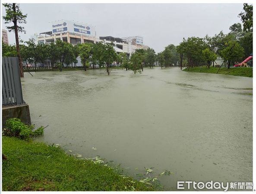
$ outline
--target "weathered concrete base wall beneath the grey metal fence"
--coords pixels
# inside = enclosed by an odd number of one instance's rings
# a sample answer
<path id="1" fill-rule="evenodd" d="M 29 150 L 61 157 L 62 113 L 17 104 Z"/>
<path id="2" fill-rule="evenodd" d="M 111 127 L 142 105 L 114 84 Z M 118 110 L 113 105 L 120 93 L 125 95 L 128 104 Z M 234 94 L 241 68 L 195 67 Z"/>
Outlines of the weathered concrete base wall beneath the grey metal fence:
<path id="1" fill-rule="evenodd" d="M 9 118 L 18 118 L 26 125 L 31 125 L 28 104 L 19 106 L 2 106 L 2 127 L 5 128 L 5 122 Z"/>

